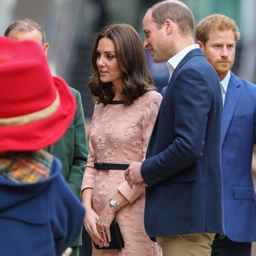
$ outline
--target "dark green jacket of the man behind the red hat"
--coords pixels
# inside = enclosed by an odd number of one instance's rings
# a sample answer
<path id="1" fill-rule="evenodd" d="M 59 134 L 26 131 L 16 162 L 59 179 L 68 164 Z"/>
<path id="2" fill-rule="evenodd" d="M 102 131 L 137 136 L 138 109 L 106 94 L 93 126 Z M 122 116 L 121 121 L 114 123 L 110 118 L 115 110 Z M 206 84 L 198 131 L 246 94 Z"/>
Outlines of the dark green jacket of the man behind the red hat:
<path id="1" fill-rule="evenodd" d="M 88 157 L 88 144 L 81 94 L 72 87 L 70 87 L 70 89 L 77 102 L 75 117 L 64 136 L 45 150 L 60 159 L 64 179 L 68 182 L 75 195 L 81 200 L 80 192 L 84 166 L 86 165 Z M 78 245 L 82 245 L 81 236 L 72 246 Z"/>

